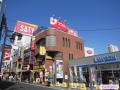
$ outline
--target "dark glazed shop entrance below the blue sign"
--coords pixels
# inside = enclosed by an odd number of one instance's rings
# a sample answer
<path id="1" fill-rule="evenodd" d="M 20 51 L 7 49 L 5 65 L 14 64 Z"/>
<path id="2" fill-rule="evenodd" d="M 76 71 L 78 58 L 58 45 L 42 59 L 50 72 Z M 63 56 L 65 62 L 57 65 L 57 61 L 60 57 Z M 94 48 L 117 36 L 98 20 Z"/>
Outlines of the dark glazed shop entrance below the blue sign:
<path id="1" fill-rule="evenodd" d="M 120 83 L 120 65 L 119 64 L 105 64 L 99 65 L 97 70 L 97 77 L 101 78 L 102 84 L 119 84 Z"/>

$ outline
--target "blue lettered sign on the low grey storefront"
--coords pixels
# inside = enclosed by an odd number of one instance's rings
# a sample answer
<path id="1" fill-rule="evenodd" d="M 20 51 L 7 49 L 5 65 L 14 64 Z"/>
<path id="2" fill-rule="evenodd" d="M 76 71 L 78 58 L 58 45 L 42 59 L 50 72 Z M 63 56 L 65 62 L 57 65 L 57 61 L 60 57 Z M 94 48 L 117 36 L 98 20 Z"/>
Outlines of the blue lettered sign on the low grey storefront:
<path id="1" fill-rule="evenodd" d="M 117 60 L 116 56 L 97 57 L 97 58 L 94 59 L 94 63 L 108 62 L 108 61 L 114 61 L 114 60 Z"/>

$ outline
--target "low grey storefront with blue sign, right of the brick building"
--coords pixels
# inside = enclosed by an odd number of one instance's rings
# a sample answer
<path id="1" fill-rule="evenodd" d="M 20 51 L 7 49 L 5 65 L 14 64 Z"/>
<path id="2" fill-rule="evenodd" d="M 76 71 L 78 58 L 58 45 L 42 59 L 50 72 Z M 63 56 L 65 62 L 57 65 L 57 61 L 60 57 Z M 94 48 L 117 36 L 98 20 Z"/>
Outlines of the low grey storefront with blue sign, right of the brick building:
<path id="1" fill-rule="evenodd" d="M 71 60 L 70 82 L 86 86 L 120 84 L 120 52 L 106 53 Z"/>

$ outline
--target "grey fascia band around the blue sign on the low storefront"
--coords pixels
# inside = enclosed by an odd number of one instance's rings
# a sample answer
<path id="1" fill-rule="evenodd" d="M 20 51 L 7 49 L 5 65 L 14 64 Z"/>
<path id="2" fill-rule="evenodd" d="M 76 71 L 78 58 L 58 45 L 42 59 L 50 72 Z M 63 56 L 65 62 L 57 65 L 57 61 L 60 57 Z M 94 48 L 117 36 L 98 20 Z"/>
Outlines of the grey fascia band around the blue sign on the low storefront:
<path id="1" fill-rule="evenodd" d="M 103 62 L 98 62 L 95 63 L 94 60 L 95 58 L 99 57 L 108 57 L 108 56 L 116 56 L 116 60 L 109 60 L 109 61 L 103 61 Z M 106 54 L 100 54 L 100 55 L 95 55 L 95 56 L 90 56 L 90 57 L 85 57 L 81 59 L 76 59 L 76 60 L 70 60 L 69 65 L 70 66 L 83 66 L 83 65 L 95 65 L 95 64 L 102 64 L 102 63 L 109 63 L 112 61 L 120 61 L 120 51 L 119 52 L 113 52 L 113 53 L 106 53 Z"/>

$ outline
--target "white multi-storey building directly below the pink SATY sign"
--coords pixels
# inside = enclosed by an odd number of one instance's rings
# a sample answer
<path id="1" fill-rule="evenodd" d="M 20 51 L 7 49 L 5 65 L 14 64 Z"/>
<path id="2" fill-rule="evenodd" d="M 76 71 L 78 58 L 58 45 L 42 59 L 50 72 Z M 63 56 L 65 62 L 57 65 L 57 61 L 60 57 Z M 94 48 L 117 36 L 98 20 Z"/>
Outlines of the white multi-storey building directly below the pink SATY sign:
<path id="1" fill-rule="evenodd" d="M 28 49 L 30 49 L 30 43 L 31 43 L 31 37 L 27 35 L 23 35 L 17 32 L 14 32 L 12 37 L 11 37 L 11 42 L 12 42 L 12 49 L 11 49 L 11 70 L 9 73 L 12 73 L 12 75 L 17 75 L 18 78 L 21 80 L 25 80 L 26 74 L 23 72 L 29 71 L 27 69 L 27 66 L 29 65 L 29 57 L 30 54 L 27 55 L 28 60 L 26 61 L 26 53 Z M 29 52 L 28 52 L 29 53 Z M 14 73 L 13 73 L 14 72 Z M 30 74 L 28 74 L 30 75 Z"/>

